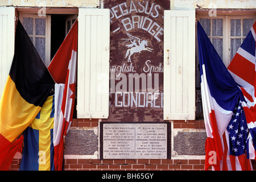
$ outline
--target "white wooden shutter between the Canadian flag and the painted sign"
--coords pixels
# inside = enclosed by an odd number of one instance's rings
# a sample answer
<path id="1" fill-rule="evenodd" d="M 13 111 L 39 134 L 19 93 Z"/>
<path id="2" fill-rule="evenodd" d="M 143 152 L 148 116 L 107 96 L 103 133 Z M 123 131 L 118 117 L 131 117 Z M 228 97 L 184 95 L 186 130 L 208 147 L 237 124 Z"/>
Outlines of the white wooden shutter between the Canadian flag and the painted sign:
<path id="1" fill-rule="evenodd" d="M 109 9 L 79 9 L 77 118 L 109 116 Z"/>

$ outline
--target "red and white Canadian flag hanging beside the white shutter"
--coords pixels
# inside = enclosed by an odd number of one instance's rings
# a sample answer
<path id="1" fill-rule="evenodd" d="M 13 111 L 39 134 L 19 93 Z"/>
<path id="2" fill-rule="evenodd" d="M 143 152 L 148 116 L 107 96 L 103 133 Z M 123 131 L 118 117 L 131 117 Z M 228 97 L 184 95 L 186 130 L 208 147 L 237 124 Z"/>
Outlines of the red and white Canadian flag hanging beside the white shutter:
<path id="1" fill-rule="evenodd" d="M 54 165 L 63 169 L 65 136 L 71 126 L 76 90 L 77 20 L 48 66 L 55 80 Z"/>

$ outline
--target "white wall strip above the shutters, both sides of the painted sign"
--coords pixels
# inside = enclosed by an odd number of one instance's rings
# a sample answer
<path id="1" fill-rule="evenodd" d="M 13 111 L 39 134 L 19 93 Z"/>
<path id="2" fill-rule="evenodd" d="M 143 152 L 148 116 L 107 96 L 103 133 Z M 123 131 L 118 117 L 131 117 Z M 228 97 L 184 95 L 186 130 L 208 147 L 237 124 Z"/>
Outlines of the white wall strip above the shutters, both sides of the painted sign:
<path id="1" fill-rule="evenodd" d="M 1 0 L 0 6 L 97 7 L 102 2 L 103 0 Z M 199 7 L 203 9 L 255 9 L 256 3 L 255 0 L 171 0 L 171 9 L 198 9 Z"/>

